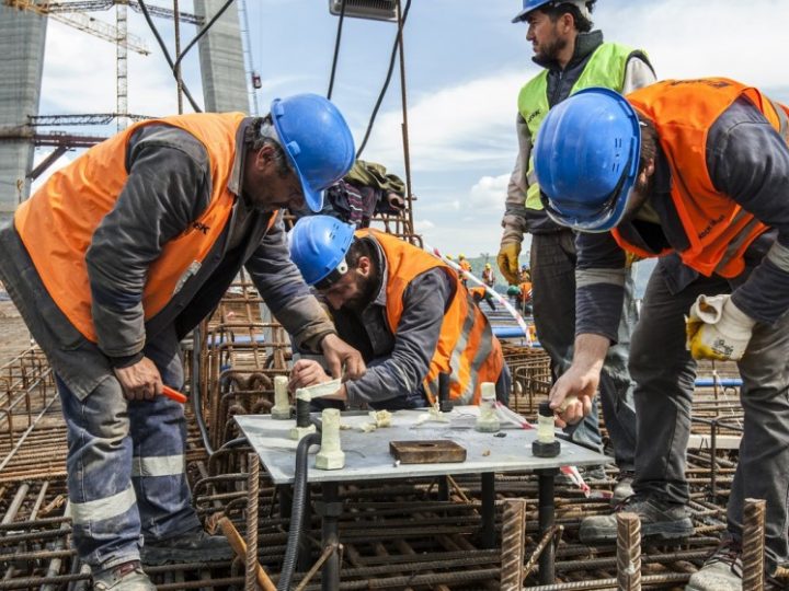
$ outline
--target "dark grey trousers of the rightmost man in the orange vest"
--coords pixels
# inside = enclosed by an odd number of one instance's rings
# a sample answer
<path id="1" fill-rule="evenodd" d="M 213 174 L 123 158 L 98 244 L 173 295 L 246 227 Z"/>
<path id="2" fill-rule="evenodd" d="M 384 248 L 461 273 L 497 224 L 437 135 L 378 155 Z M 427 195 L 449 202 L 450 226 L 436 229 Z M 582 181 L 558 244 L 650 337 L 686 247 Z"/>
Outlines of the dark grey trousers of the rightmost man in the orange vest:
<path id="1" fill-rule="evenodd" d="M 723 278 L 699 277 L 672 294 L 661 264 L 652 274 L 630 352 L 639 417 L 633 489 L 639 495 L 688 502 L 685 464 L 696 362 L 685 347 L 685 315 L 699 294 L 730 291 Z M 773 570 L 789 557 L 789 314 L 775 326 L 757 323 L 737 366 L 745 420 L 729 497 L 729 532 L 741 537 L 745 498 L 765 499 Z"/>

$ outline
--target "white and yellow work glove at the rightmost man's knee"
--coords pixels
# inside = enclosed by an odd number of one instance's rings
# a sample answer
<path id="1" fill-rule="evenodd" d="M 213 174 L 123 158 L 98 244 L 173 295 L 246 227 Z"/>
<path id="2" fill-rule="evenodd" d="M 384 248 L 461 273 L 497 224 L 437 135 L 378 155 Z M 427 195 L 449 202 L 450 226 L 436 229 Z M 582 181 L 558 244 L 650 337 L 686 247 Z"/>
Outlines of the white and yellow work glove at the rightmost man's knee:
<path id="1" fill-rule="evenodd" d="M 756 321 L 740 310 L 731 296 L 699 296 L 685 318 L 687 349 L 694 359 L 739 361 Z"/>

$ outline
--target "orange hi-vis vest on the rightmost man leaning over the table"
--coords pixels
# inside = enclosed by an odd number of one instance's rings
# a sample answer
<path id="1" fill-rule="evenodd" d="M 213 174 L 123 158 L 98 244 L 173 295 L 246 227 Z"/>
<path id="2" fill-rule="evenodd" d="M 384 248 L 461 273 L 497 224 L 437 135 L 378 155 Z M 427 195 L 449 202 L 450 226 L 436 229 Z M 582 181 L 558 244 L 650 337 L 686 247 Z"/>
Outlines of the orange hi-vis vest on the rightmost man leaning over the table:
<path id="1" fill-rule="evenodd" d="M 740 96 L 751 100 L 789 143 L 789 109 L 733 80 L 666 80 L 627 96 L 639 113 L 654 123 L 668 160 L 672 201 L 690 244 L 679 253 L 683 263 L 706 276 L 740 275 L 745 268 L 743 254 L 767 230 L 731 197 L 716 190 L 707 170 L 707 134 Z M 655 256 L 630 244 L 619 230 L 611 233 L 626 251 Z M 658 255 L 667 252 L 671 250 Z"/>

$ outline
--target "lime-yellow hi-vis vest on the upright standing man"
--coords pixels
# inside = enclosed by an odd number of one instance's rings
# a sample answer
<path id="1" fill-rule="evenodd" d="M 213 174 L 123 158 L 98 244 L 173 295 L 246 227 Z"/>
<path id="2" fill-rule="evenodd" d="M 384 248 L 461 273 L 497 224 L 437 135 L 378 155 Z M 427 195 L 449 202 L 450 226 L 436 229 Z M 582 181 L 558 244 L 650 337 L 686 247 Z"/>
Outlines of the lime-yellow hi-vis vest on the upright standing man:
<path id="1" fill-rule="evenodd" d="M 618 43 L 604 43 L 595 49 L 586 62 L 581 76 L 573 84 L 570 94 L 588 89 L 590 86 L 605 86 L 615 91 L 621 91 L 625 84 L 625 69 L 628 59 L 634 49 Z M 643 53 L 641 53 L 643 54 Z M 645 55 L 645 54 L 643 54 Z M 548 115 L 548 70 L 529 80 L 518 94 L 518 112 L 526 121 L 531 136 L 531 142 L 537 139 L 537 131 L 542 125 L 542 119 Z M 529 209 L 542 209 L 539 198 L 539 185 L 534 174 L 534 157 L 529 158 L 528 171 L 526 172 L 526 207 Z"/>

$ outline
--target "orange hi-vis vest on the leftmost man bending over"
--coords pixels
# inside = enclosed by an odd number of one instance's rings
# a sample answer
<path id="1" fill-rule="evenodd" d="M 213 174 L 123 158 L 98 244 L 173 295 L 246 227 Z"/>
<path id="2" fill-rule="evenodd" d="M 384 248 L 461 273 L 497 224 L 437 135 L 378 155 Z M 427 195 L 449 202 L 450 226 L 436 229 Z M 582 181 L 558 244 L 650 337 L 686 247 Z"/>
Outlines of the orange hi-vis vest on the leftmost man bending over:
<path id="1" fill-rule="evenodd" d="M 44 286 L 85 338 L 96 341 L 85 252 L 126 183 L 126 146 L 132 135 L 141 126 L 162 123 L 188 131 L 208 152 L 213 183 L 206 210 L 164 245 L 148 270 L 142 292 L 148 321 L 167 305 L 184 279 L 196 274 L 225 229 L 236 198 L 227 185 L 243 118 L 241 113 L 179 115 L 133 125 L 53 174 L 18 208 L 14 225 Z"/>

